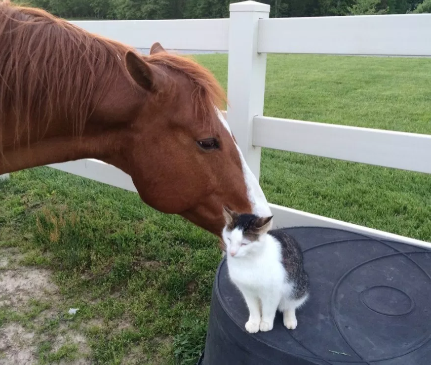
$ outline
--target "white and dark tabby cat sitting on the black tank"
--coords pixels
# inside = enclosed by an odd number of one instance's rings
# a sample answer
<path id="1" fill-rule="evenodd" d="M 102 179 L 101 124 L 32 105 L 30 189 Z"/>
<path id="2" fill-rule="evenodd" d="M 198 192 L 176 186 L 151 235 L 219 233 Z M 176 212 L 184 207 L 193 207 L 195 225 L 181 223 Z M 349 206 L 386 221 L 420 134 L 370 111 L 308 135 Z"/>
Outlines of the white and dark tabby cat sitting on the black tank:
<path id="1" fill-rule="evenodd" d="M 273 216 L 239 214 L 223 207 L 222 233 L 229 277 L 247 304 L 250 333 L 270 331 L 277 309 L 288 329 L 298 325 L 295 311 L 310 296 L 303 253 L 295 239 L 281 229 L 271 230 Z"/>

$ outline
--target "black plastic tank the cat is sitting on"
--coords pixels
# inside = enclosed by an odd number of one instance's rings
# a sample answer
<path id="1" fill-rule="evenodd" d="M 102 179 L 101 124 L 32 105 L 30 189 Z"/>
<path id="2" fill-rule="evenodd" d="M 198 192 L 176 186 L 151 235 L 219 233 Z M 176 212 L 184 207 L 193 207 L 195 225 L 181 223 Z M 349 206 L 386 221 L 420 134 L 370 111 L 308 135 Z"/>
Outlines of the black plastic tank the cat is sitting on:
<path id="1" fill-rule="evenodd" d="M 431 251 L 337 229 L 289 228 L 311 297 L 298 326 L 250 334 L 223 259 L 198 365 L 430 365 Z"/>

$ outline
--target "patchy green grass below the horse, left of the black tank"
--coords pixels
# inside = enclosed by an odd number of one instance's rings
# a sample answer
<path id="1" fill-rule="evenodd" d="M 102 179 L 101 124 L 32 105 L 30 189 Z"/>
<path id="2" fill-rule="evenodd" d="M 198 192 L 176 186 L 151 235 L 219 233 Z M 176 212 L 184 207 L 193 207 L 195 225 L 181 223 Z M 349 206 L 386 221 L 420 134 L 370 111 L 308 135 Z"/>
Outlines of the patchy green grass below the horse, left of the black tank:
<path id="1" fill-rule="evenodd" d="M 0 326 L 18 318 L 43 334 L 38 364 L 56 364 L 46 338 L 65 323 L 87 337 L 88 364 L 196 363 L 221 258 L 210 234 L 137 194 L 49 168 L 0 183 L 0 227 L 0 250 L 19 247 L 23 263 L 52 269 L 61 290 L 36 314 L 32 305 L 22 312 L 0 304 Z M 71 317 L 69 308 L 79 311 Z"/>

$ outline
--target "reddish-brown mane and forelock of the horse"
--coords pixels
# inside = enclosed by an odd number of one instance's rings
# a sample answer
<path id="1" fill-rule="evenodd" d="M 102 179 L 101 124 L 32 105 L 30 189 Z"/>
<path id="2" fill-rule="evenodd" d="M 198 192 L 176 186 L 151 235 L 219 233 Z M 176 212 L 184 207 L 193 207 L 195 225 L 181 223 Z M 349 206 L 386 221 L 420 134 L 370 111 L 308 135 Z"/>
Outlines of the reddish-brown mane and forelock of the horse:
<path id="1" fill-rule="evenodd" d="M 15 121 L 9 125 L 14 143 L 26 135 L 28 144 L 31 135 L 39 140 L 59 119 L 81 135 L 112 80 L 126 74 L 124 56 L 133 48 L 42 9 L 0 0 L 0 50 L 1 157 L 8 120 Z M 142 57 L 186 75 L 195 87 L 196 113 L 203 118 L 226 100 L 214 76 L 193 60 L 166 52 Z"/>

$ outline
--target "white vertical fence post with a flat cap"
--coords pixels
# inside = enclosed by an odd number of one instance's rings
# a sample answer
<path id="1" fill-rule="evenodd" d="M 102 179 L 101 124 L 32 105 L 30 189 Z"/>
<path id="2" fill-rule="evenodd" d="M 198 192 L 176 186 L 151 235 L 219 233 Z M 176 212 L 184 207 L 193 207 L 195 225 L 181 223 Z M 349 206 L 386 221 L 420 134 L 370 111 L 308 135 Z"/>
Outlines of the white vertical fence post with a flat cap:
<path id="1" fill-rule="evenodd" d="M 230 5 L 228 123 L 253 174 L 259 180 L 261 148 L 253 147 L 253 117 L 263 115 L 266 53 L 257 53 L 259 19 L 270 5 L 256 1 Z"/>

